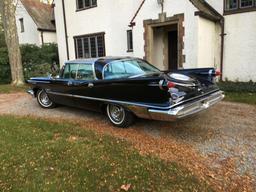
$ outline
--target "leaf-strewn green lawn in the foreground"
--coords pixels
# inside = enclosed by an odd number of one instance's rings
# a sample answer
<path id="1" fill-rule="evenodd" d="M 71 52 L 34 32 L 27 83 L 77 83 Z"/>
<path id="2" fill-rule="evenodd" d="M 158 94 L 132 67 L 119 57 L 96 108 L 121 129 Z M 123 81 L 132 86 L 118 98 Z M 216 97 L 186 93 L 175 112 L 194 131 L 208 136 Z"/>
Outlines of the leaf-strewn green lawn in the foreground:
<path id="1" fill-rule="evenodd" d="M 212 191 L 176 163 L 72 124 L 0 116 L 0 191 Z"/>

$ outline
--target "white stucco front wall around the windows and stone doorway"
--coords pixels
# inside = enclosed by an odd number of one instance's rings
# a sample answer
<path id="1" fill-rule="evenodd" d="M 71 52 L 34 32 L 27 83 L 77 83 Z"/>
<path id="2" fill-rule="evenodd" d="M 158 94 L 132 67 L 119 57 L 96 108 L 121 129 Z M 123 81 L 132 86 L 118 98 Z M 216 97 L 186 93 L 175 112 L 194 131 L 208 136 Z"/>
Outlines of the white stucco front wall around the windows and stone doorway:
<path id="1" fill-rule="evenodd" d="M 70 59 L 75 59 L 74 36 L 90 33 L 105 32 L 106 55 L 136 56 L 143 58 L 144 53 L 144 27 L 143 21 L 158 19 L 161 7 L 157 1 L 146 1 L 135 19 L 133 28 L 133 53 L 127 52 L 126 30 L 129 22 L 137 11 L 141 1 L 137 0 L 98 0 L 96 8 L 76 11 L 75 1 L 65 1 L 68 43 Z M 57 26 L 57 39 L 61 63 L 67 59 L 65 48 L 65 33 L 61 0 L 55 1 L 55 15 Z M 167 17 L 175 14 L 184 15 L 184 44 L 183 54 L 186 55 L 185 68 L 197 67 L 197 9 L 187 0 L 165 1 L 164 12 Z"/>

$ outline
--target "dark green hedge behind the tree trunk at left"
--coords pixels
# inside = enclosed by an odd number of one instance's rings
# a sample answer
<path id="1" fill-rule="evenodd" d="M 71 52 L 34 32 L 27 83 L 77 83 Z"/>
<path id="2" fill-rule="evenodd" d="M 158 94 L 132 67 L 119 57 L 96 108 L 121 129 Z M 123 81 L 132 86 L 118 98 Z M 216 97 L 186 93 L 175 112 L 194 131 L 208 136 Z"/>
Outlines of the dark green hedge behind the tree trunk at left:
<path id="1" fill-rule="evenodd" d="M 59 64 L 58 47 L 56 44 L 21 46 L 22 64 L 25 79 L 36 76 L 47 76 L 51 73 L 51 65 Z M 0 83 L 10 83 L 11 73 L 6 47 L 0 47 Z"/>

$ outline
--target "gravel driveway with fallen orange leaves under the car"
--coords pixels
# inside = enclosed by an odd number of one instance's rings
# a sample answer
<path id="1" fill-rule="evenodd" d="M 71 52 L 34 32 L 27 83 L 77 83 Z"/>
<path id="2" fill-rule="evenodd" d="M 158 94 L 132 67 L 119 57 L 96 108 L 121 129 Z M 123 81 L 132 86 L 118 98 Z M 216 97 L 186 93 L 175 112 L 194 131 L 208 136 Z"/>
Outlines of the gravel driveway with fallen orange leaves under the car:
<path id="1" fill-rule="evenodd" d="M 222 102 L 179 122 L 138 120 L 113 128 L 104 115 L 70 107 L 40 108 L 24 93 L 0 95 L 0 114 L 63 119 L 131 142 L 142 154 L 176 161 L 216 191 L 256 191 L 256 106 Z"/>

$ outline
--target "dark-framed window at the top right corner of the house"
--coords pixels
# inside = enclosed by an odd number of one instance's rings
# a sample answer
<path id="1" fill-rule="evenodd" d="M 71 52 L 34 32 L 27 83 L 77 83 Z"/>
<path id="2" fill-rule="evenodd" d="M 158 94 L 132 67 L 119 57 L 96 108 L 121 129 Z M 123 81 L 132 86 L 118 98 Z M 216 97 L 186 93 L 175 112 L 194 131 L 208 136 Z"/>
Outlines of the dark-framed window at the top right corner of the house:
<path id="1" fill-rule="evenodd" d="M 225 14 L 256 11 L 256 0 L 225 0 Z"/>

